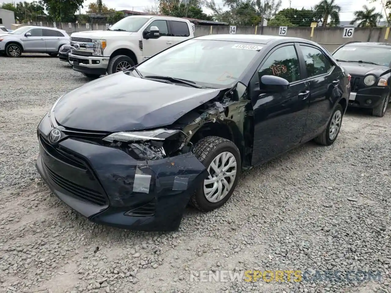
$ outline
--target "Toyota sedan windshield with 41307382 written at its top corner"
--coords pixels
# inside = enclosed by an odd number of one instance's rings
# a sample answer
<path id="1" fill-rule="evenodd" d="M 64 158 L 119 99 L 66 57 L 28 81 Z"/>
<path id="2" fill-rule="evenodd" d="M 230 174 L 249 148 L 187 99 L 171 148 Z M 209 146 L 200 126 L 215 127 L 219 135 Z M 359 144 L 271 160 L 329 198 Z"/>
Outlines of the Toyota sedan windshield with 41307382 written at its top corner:
<path id="1" fill-rule="evenodd" d="M 143 76 L 160 75 L 227 88 L 242 75 L 262 44 L 192 39 L 137 66 Z"/>

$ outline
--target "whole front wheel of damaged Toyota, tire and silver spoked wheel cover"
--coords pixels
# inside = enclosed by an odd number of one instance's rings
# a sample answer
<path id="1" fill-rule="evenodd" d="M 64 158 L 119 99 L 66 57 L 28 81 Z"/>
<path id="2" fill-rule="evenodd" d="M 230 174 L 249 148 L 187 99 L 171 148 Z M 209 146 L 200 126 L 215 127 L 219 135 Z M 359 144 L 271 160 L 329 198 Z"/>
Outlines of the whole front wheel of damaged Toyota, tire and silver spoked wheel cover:
<path id="1" fill-rule="evenodd" d="M 197 186 L 190 204 L 200 211 L 212 211 L 231 197 L 240 177 L 240 152 L 230 140 L 207 136 L 194 147 L 194 155 L 208 170 L 208 177 Z"/>

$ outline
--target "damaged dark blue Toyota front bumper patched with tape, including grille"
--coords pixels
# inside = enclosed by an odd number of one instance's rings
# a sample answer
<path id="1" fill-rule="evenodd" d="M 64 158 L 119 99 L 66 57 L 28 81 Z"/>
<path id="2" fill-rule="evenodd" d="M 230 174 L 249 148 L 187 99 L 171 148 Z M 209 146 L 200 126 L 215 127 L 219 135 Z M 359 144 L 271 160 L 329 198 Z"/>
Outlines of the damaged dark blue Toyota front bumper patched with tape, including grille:
<path id="1" fill-rule="evenodd" d="M 177 230 L 195 187 L 208 175 L 192 153 L 137 161 L 121 150 L 74 136 L 51 145 L 52 127 L 48 115 L 39 123 L 36 168 L 59 199 L 95 223 Z"/>

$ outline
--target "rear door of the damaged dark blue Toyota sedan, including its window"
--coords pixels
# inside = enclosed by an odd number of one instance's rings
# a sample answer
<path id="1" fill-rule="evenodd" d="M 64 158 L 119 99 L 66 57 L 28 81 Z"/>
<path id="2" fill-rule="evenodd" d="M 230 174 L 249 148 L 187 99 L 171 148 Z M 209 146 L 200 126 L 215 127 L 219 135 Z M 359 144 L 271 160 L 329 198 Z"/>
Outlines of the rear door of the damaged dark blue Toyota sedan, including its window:
<path id="1" fill-rule="evenodd" d="M 335 102 L 342 95 L 338 88 L 341 80 L 341 70 L 335 66 L 319 48 L 309 44 L 299 44 L 303 60 L 303 72 L 310 96 L 308 118 L 305 125 L 303 141 L 308 141 L 326 128 L 334 109 Z"/>

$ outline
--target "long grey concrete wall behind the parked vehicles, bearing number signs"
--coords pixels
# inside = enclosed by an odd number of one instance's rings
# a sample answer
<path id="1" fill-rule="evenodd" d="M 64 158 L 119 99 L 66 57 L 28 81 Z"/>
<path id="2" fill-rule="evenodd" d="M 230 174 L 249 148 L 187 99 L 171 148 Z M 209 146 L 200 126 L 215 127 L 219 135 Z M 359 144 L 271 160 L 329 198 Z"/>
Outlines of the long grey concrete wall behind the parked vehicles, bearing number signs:
<path id="1" fill-rule="evenodd" d="M 32 22 L 32 25 L 41 25 L 39 22 Z M 43 22 L 43 26 L 53 27 L 53 23 Z M 87 28 L 88 25 L 88 28 Z M 106 30 L 106 25 L 97 23 L 56 23 L 56 27 L 66 30 L 68 34 L 76 31 L 84 30 Z M 391 43 L 390 38 L 386 36 L 386 27 L 379 28 L 355 28 L 353 38 L 343 38 L 342 27 L 315 27 L 314 34 L 311 37 L 310 27 L 288 27 L 287 36 L 303 39 L 310 39 L 316 43 L 319 43 L 330 52 L 334 51 L 339 45 L 349 41 L 362 41 L 362 42 L 386 42 Z M 230 31 L 229 26 L 204 26 L 196 25 L 194 34 L 195 36 L 203 36 L 208 34 L 228 34 Z M 256 26 L 237 26 L 236 34 L 264 34 L 277 36 L 279 27 L 256 27 Z M 387 37 L 387 39 L 385 39 Z"/>

